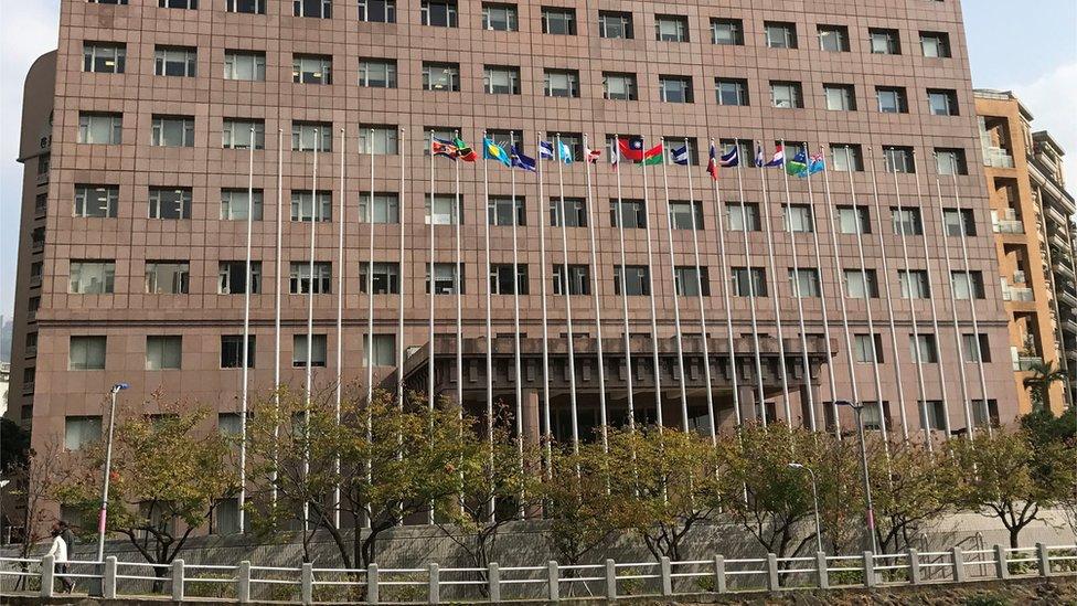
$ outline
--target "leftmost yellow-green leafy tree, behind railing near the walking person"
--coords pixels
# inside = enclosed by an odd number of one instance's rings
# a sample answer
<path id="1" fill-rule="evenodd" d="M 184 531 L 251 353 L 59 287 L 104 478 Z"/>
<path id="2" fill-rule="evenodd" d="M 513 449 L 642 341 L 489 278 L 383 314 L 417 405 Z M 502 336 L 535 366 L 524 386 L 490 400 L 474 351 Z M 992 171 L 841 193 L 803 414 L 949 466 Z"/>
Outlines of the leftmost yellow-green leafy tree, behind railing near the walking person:
<path id="1" fill-rule="evenodd" d="M 163 413 L 117 411 L 107 530 L 127 536 L 147 562 L 169 564 L 221 500 L 237 493 L 239 482 L 232 445 L 201 427 L 206 408 L 156 402 Z M 54 490 L 55 500 L 96 518 L 104 465 L 105 444 L 88 447 Z"/>

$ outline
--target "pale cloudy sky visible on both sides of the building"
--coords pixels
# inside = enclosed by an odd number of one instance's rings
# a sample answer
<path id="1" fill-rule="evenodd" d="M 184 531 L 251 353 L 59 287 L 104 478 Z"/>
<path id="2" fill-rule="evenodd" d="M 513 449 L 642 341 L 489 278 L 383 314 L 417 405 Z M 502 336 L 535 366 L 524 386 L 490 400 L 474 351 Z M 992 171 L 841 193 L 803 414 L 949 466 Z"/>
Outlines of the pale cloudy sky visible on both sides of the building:
<path id="1" fill-rule="evenodd" d="M 11 317 L 22 166 L 19 123 L 26 71 L 56 47 L 60 0 L 2 0 L 0 9 L 0 315 Z M 15 8 L 18 6 L 18 8 Z M 1019 12 L 1021 9 L 1024 12 Z M 977 87 L 1013 89 L 1069 151 L 1077 190 L 1077 2 L 964 0 Z"/>

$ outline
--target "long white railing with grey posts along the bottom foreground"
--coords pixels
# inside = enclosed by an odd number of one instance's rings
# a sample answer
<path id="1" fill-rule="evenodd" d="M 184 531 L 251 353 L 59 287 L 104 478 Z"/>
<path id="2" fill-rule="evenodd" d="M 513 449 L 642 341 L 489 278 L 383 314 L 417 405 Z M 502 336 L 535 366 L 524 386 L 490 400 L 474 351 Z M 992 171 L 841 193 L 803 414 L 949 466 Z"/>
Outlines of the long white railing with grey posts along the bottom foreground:
<path id="1" fill-rule="evenodd" d="M 1077 574 L 1077 545 L 1046 545 L 894 554 L 731 559 L 658 562 L 616 562 L 544 566 L 447 567 L 428 564 L 416 568 L 323 568 L 120 562 L 67 562 L 57 572 L 53 556 L 0 557 L 0 589 L 7 595 L 53 597 L 62 578 L 76 582 L 104 598 L 162 594 L 175 602 L 207 597 L 245 604 L 275 599 L 300 604 L 393 604 L 444 600 L 501 602 L 544 599 L 558 602 L 577 596 L 619 597 L 686 594 L 724 594 L 791 588 L 877 587 L 964 583 L 1057 574 Z M 146 589 L 150 585 L 149 591 Z"/>

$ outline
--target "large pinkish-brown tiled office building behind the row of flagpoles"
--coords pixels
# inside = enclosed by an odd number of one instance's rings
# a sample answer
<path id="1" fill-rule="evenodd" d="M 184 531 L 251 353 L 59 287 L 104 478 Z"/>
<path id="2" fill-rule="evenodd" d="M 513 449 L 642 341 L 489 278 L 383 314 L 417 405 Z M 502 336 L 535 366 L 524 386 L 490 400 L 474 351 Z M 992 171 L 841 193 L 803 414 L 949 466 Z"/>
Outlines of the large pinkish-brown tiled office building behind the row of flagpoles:
<path id="1" fill-rule="evenodd" d="M 932 439 L 1019 412 L 957 0 L 63 0 L 57 49 L 21 148 L 9 414 L 35 444 L 96 436 L 118 382 L 234 427 L 248 284 L 252 394 L 279 342 L 299 389 L 433 368 L 532 438 L 547 402 L 561 439 L 630 410 L 849 429 L 849 400 Z M 540 190 L 431 131 L 576 161 Z M 615 169 L 618 135 L 690 164 Z M 712 138 L 739 150 L 716 181 Z M 827 170 L 755 168 L 781 142 Z"/>

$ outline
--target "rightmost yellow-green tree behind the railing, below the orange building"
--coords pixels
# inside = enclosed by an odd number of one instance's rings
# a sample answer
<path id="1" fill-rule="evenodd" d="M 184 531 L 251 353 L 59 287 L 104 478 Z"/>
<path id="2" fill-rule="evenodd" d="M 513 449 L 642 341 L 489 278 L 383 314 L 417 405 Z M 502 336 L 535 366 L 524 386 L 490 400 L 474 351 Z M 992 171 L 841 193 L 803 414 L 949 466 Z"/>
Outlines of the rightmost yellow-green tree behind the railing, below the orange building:
<path id="1" fill-rule="evenodd" d="M 1010 532 L 1011 547 L 1020 545 L 1021 531 L 1039 519 L 1041 510 L 1059 503 L 1077 480 L 1073 446 L 1037 444 L 1028 429 L 979 432 L 952 444 L 964 469 L 959 502 L 998 518 Z"/>

